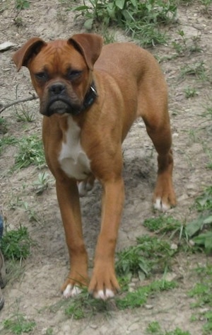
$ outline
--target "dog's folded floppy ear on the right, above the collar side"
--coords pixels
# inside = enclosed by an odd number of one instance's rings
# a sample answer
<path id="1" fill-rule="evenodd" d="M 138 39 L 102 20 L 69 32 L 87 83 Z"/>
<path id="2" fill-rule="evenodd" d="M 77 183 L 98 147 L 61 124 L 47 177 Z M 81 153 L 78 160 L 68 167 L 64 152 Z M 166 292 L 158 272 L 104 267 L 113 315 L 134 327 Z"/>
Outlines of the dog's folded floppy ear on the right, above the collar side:
<path id="1" fill-rule="evenodd" d="M 95 34 L 76 34 L 68 42 L 83 55 L 88 68 L 93 70 L 93 64 L 98 59 L 102 50 L 103 38 Z"/>

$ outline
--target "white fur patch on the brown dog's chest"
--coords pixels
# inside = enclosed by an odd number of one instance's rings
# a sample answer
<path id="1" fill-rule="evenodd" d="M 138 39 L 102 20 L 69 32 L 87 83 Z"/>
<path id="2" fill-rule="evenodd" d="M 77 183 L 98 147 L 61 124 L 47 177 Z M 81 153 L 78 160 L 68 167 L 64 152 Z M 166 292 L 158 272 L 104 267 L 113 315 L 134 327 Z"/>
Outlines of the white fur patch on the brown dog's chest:
<path id="1" fill-rule="evenodd" d="M 68 125 L 66 142 L 62 142 L 59 153 L 59 163 L 67 176 L 83 180 L 90 174 L 90 160 L 81 147 L 81 128 L 73 121 L 71 115 L 69 115 Z"/>

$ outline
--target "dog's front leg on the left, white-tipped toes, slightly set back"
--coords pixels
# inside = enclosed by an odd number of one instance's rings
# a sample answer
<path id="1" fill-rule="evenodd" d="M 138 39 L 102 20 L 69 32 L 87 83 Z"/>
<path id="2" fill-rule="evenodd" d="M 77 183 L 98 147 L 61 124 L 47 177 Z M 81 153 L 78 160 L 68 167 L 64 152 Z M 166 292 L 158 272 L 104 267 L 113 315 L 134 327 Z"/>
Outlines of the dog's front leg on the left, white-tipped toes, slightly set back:
<path id="1" fill-rule="evenodd" d="M 88 256 L 83 242 L 81 210 L 76 181 L 56 181 L 57 199 L 69 249 L 71 271 L 61 290 L 64 297 L 76 295 L 79 286 L 88 285 Z"/>

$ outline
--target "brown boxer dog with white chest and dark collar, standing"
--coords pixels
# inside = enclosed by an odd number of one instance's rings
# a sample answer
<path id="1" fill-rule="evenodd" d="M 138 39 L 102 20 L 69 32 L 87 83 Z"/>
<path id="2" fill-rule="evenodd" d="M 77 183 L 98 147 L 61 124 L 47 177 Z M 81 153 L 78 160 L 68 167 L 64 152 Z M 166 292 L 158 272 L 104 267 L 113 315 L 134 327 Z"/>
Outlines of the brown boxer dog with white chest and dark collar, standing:
<path id="1" fill-rule="evenodd" d="M 129 42 L 102 47 L 102 38 L 93 34 L 49 43 L 32 38 L 13 60 L 18 70 L 30 70 L 45 115 L 45 155 L 56 178 L 71 260 L 64 296 L 88 285 L 95 297 L 112 297 L 119 289 L 114 251 L 124 203 L 121 145 L 137 117 L 143 118 L 158 152 L 155 208 L 167 210 L 176 203 L 163 74 L 146 50 Z M 92 188 L 95 178 L 103 188 L 102 222 L 89 283 L 78 195 Z"/>

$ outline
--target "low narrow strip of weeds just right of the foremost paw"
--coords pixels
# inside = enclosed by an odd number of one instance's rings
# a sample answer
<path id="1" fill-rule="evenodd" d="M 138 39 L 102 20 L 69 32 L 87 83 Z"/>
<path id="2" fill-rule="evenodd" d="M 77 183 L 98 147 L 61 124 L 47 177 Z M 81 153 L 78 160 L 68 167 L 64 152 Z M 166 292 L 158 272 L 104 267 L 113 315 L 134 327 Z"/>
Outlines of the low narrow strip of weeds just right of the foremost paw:
<path id="1" fill-rule="evenodd" d="M 116 297 L 115 302 L 119 310 L 126 308 L 141 307 L 146 304 L 148 297 L 153 293 L 158 293 L 163 290 L 172 290 L 177 287 L 177 283 L 167 280 L 155 280 L 149 285 L 141 286 L 134 292 L 126 293 L 123 298 Z"/>

